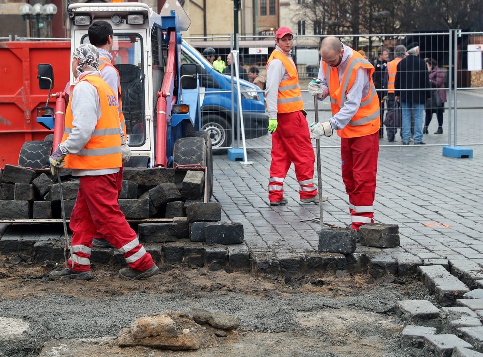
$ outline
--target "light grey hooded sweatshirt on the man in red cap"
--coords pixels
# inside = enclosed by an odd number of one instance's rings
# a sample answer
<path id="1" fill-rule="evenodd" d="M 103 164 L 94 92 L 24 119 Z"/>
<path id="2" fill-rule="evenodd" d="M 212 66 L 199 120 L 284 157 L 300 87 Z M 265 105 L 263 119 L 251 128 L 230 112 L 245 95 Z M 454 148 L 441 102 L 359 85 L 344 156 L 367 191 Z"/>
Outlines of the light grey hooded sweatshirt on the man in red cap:
<path id="1" fill-rule="evenodd" d="M 279 46 L 275 46 L 274 51 L 279 51 L 287 56 L 295 67 L 290 53 L 285 52 Z M 290 76 L 280 59 L 274 58 L 267 66 L 267 81 L 265 83 L 265 102 L 267 103 L 267 114 L 270 119 L 277 119 L 277 94 L 280 82 L 289 79 Z"/>

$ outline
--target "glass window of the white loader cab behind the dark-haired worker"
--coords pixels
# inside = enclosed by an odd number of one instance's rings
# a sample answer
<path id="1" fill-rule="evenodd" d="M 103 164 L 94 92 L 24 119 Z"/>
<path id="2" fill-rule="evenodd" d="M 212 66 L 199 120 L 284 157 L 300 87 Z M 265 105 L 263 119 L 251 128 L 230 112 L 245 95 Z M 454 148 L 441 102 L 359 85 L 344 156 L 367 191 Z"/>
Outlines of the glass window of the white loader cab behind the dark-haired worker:
<path id="1" fill-rule="evenodd" d="M 114 34 L 113 38 L 112 63 L 119 72 L 128 142 L 143 145 L 146 131 L 142 38 L 138 34 Z M 84 36 L 82 43 L 89 43 L 89 37 Z"/>

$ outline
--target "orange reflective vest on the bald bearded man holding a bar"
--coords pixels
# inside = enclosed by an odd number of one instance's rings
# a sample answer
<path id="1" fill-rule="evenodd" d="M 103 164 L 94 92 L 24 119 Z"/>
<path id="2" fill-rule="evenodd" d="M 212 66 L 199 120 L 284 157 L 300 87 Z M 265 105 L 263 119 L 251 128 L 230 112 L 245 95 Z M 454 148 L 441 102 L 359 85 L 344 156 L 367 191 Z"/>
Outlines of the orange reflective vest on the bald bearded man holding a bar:
<path id="1" fill-rule="evenodd" d="M 352 49 L 351 49 L 352 50 Z M 340 111 L 341 106 L 346 101 L 346 96 L 352 88 L 356 80 L 357 69 L 362 67 L 370 70 L 369 73 L 369 93 L 361 98 L 361 104 L 351 121 L 343 128 L 337 130 L 340 137 L 361 137 L 377 132 L 381 126 L 379 116 L 379 98 L 376 94 L 376 88 L 372 81 L 372 74 L 375 69 L 361 54 L 352 50 L 352 56 L 349 58 L 346 71 L 342 76 L 342 83 L 339 83 L 339 70 L 337 67 L 329 67 L 327 63 L 322 61 L 330 93 L 330 105 L 332 107 L 332 115 Z M 327 71 L 327 68 L 330 68 Z"/>

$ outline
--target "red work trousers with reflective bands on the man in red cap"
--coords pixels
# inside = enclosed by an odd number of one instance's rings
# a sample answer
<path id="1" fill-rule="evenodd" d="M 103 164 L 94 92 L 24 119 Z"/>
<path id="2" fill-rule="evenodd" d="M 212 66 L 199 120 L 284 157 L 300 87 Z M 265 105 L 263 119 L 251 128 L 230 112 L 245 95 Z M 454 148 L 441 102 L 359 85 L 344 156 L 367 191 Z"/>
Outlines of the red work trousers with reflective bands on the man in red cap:
<path id="1" fill-rule="evenodd" d="M 301 111 L 277 114 L 277 130 L 272 134 L 272 163 L 268 198 L 278 202 L 283 198 L 283 181 L 290 165 L 295 166 L 300 198 L 317 195 L 314 186 L 314 149 L 310 141 L 309 126 Z"/>

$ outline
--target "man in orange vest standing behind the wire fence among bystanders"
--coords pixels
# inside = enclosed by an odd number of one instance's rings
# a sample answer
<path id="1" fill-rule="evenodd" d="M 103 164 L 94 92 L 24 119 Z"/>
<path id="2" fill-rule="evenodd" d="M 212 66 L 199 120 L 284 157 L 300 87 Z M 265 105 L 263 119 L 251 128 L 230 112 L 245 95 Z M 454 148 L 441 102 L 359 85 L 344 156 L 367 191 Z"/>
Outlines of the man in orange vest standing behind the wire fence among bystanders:
<path id="1" fill-rule="evenodd" d="M 398 67 L 398 63 L 401 62 L 401 60 L 406 56 L 406 47 L 403 45 L 398 45 L 394 49 L 394 59 L 387 64 L 387 72 L 384 78 L 384 82 L 387 82 L 386 88 L 388 89 L 387 91 L 387 110 L 388 114 L 391 113 L 393 117 L 399 116 L 400 111 L 401 111 L 401 106 L 400 104 L 396 101 L 394 97 L 394 81 L 396 79 L 396 71 Z M 396 114 L 395 114 L 396 113 Z M 386 130 L 387 130 L 387 141 L 393 142 L 394 141 L 394 136 L 396 136 L 396 133 L 398 131 L 398 128 L 401 127 L 401 121 L 402 118 L 398 117 L 398 125 L 396 123 L 390 123 L 388 120 L 388 125 L 386 125 Z M 392 125 L 391 125 L 392 124 Z M 400 132 L 401 138 L 403 138 L 403 133 L 402 131 Z"/>

